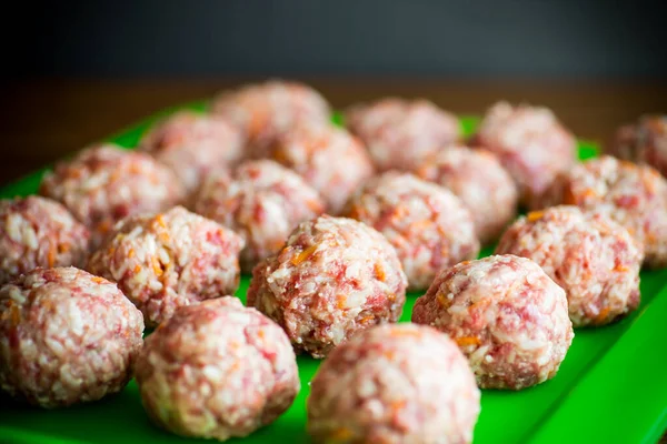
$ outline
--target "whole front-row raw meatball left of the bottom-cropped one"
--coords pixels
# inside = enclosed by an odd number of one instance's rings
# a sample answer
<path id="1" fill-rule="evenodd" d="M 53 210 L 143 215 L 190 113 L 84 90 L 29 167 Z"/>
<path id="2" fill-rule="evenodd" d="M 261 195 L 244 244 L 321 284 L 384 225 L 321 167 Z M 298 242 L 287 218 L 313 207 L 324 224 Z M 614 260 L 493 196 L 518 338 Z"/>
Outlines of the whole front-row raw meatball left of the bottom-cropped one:
<path id="1" fill-rule="evenodd" d="M 285 332 L 236 297 L 179 307 L 146 340 L 136 376 L 153 422 L 219 441 L 273 422 L 300 389 Z"/>

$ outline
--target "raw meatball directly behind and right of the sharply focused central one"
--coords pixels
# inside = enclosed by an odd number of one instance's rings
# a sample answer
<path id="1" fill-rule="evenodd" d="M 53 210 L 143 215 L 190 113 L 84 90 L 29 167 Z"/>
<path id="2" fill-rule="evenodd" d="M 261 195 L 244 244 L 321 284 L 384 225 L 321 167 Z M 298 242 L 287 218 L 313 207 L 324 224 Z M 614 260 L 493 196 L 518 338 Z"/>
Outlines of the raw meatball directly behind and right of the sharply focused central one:
<path id="1" fill-rule="evenodd" d="M 424 290 L 444 266 L 479 253 L 472 216 L 449 190 L 412 174 L 388 172 L 370 181 L 346 212 L 394 245 L 409 290 Z"/>

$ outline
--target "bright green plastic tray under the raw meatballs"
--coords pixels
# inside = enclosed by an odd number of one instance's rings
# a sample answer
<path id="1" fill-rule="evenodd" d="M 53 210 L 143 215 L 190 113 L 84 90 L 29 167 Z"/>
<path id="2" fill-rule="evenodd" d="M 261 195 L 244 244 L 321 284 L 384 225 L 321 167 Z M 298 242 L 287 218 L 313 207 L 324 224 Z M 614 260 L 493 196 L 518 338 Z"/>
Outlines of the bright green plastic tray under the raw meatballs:
<path id="1" fill-rule="evenodd" d="M 187 108 L 201 110 L 203 102 Z M 161 112 L 111 141 L 126 148 Z M 475 118 L 462 118 L 467 133 Z M 580 142 L 581 159 L 595 157 Z M 0 190 L 0 198 L 37 191 L 43 171 Z M 490 253 L 486 249 L 481 255 Z M 249 279 L 237 295 L 245 301 Z M 401 321 L 409 321 L 419 293 L 410 293 Z M 475 443 L 651 443 L 667 427 L 667 270 L 641 273 L 641 305 L 626 320 L 601 329 L 577 330 L 558 375 L 521 392 L 482 391 Z M 306 398 L 318 361 L 300 356 L 301 393 L 277 422 L 233 442 L 309 442 Z M 0 442 L 9 443 L 183 443 L 149 421 L 132 381 L 118 395 L 97 403 L 43 411 L 0 400 Z M 193 442 L 199 442 L 192 440 Z"/>

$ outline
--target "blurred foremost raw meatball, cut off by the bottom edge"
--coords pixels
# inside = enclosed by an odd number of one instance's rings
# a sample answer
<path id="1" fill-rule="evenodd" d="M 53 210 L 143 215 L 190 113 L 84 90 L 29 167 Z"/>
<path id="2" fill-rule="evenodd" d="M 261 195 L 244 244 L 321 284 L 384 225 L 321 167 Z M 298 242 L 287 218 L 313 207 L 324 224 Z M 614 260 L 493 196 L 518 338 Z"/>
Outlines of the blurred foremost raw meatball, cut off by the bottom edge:
<path id="1" fill-rule="evenodd" d="M 336 349 L 311 383 L 318 443 L 470 443 L 479 390 L 456 344 L 435 329 L 381 325 Z"/>

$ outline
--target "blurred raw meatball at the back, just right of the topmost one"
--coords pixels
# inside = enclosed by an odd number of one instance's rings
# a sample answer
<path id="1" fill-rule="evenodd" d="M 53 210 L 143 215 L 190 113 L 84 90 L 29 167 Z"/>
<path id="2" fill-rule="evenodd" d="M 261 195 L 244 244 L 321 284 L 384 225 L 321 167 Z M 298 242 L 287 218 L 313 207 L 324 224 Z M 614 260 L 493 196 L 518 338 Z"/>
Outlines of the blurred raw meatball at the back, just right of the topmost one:
<path id="1" fill-rule="evenodd" d="M 388 98 L 352 107 L 350 131 L 368 148 L 380 171 L 412 171 L 460 137 L 458 119 L 427 100 Z"/>

